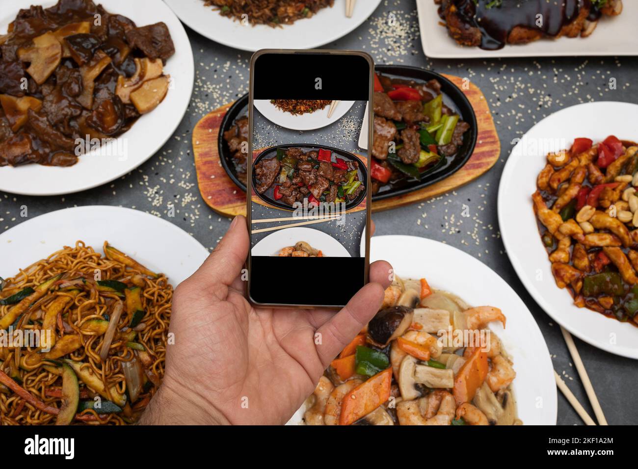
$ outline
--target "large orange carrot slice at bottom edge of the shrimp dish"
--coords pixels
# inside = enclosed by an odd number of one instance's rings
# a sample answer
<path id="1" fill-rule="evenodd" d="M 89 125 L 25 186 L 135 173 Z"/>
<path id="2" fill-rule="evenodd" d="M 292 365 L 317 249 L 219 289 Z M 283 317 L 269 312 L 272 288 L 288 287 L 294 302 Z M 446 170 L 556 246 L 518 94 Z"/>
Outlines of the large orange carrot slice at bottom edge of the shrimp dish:
<path id="1" fill-rule="evenodd" d="M 384 369 L 348 392 L 341 402 L 339 425 L 350 425 L 390 399 L 392 368 Z"/>

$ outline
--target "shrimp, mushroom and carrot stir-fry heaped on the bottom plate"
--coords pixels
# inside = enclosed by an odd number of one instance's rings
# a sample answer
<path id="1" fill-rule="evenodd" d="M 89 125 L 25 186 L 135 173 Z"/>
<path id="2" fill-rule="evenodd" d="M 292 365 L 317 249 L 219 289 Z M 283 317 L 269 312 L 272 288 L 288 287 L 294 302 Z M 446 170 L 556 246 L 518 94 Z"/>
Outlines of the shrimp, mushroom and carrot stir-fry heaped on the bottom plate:
<path id="1" fill-rule="evenodd" d="M 471 308 L 426 279 L 396 277 L 380 311 L 320 378 L 304 422 L 522 424 L 512 359 L 487 327 L 494 321 L 505 327 L 498 308 Z M 475 339 L 450 340 L 458 332 Z"/>

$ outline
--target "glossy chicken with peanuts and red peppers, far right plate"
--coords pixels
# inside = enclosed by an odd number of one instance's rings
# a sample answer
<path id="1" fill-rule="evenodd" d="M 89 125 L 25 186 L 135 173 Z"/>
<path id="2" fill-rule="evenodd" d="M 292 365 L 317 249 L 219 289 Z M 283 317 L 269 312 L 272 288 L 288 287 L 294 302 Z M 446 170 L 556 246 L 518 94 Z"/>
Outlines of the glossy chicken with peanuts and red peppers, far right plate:
<path id="1" fill-rule="evenodd" d="M 550 153 L 532 195 L 559 288 L 579 308 L 638 324 L 638 146 L 613 135 Z"/>

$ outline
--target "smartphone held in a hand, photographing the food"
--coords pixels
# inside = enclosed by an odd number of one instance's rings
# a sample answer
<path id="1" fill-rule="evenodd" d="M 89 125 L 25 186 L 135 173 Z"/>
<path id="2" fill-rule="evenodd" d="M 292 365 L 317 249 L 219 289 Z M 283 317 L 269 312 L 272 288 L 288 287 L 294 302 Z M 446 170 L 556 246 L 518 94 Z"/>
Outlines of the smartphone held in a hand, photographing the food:
<path id="1" fill-rule="evenodd" d="M 372 148 L 373 73 L 359 51 L 253 55 L 246 218 L 254 304 L 341 308 L 366 284 L 370 158 L 357 142 L 364 128 Z"/>

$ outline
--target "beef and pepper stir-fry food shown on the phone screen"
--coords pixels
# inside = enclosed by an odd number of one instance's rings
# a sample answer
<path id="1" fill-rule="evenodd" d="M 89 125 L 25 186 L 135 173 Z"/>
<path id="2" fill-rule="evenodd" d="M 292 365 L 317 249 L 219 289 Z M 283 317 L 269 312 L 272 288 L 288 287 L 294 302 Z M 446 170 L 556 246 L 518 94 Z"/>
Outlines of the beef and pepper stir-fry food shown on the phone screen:
<path id="1" fill-rule="evenodd" d="M 271 187 L 272 198 L 293 205 L 348 202 L 366 190 L 359 180 L 359 162 L 344 160 L 327 149 L 304 151 L 278 148 L 276 156 L 255 165 L 256 190 L 263 194 Z"/>

